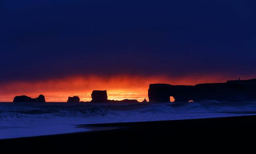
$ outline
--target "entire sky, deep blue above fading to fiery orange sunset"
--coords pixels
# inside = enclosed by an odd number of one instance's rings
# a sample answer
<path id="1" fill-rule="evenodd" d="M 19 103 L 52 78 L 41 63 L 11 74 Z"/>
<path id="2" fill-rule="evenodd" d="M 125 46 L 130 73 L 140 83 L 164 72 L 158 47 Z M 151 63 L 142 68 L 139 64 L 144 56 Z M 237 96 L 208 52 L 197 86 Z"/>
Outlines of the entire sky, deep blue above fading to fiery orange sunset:
<path id="1" fill-rule="evenodd" d="M 252 0 L 0 0 L 0 101 L 147 98 L 256 77 Z"/>

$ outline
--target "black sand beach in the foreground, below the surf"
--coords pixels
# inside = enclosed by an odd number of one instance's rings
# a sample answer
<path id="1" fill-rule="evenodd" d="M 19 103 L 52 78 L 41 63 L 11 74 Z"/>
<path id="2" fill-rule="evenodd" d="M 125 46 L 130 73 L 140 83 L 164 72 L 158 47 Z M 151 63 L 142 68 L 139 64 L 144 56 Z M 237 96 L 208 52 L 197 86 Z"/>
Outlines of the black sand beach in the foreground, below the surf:
<path id="1" fill-rule="evenodd" d="M 84 124 L 78 127 L 109 130 L 88 131 L 0 140 L 0 146 L 123 147 L 245 143 L 256 137 L 256 115 L 224 118 Z M 114 128 L 114 129 L 112 129 Z M 209 146 L 209 145 L 208 145 Z"/>

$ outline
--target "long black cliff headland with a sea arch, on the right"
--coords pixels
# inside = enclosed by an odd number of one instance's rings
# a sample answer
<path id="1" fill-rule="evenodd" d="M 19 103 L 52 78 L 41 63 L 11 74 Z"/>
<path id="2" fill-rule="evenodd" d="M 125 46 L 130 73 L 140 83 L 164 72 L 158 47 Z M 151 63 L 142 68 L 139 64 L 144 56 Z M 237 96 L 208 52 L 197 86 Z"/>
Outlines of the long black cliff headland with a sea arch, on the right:
<path id="1" fill-rule="evenodd" d="M 256 79 L 233 80 L 226 83 L 204 83 L 195 86 L 150 84 L 150 102 L 216 100 L 220 102 L 256 101 Z"/>

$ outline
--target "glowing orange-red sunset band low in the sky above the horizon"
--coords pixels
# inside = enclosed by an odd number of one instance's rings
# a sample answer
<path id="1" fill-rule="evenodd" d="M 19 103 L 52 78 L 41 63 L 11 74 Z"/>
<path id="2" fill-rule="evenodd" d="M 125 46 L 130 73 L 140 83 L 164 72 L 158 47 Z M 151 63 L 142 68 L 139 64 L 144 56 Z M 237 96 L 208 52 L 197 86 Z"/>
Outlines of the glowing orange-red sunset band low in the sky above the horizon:
<path id="1" fill-rule="evenodd" d="M 63 79 L 44 81 L 16 81 L 1 84 L 0 102 L 12 102 L 18 95 L 32 98 L 42 94 L 47 102 L 66 102 L 69 96 L 78 96 L 80 101 L 90 101 L 93 90 L 107 90 L 108 99 L 137 99 L 148 101 L 148 86 L 151 83 L 168 83 L 171 85 L 195 85 L 198 83 L 226 82 L 230 78 L 223 75 L 168 77 L 116 75 L 112 77 L 73 76 Z M 231 78 L 232 79 L 232 78 Z"/>

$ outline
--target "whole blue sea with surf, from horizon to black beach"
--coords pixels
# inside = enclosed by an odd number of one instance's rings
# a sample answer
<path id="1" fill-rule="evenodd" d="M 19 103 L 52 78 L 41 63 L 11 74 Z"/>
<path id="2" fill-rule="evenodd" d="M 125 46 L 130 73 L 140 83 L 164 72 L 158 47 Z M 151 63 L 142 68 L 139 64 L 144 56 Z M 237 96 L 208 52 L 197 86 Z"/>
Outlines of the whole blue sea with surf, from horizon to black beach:
<path id="1" fill-rule="evenodd" d="M 140 122 L 256 114 L 256 102 L 0 103 L 0 138 L 80 132 L 78 124 Z"/>

